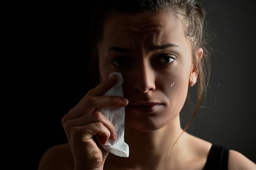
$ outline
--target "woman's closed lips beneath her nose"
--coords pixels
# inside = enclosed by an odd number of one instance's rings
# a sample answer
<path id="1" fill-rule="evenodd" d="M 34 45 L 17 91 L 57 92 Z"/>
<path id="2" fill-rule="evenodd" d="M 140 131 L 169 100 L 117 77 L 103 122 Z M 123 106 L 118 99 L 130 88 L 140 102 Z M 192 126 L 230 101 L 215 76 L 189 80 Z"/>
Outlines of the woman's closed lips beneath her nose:
<path id="1" fill-rule="evenodd" d="M 128 105 L 128 107 L 136 110 L 137 112 L 141 113 L 152 113 L 157 110 L 159 106 L 162 104 L 160 103 L 141 103 L 141 104 L 132 104 Z"/>

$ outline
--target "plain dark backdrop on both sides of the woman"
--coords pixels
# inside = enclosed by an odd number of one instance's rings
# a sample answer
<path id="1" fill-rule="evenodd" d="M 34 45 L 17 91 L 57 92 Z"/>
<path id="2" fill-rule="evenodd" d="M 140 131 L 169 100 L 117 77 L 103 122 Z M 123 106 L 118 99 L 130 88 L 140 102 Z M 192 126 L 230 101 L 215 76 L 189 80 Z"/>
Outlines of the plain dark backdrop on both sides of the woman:
<path id="1" fill-rule="evenodd" d="M 88 92 L 89 1 L 0 2 L 3 169 L 37 169 L 67 142 L 62 117 Z M 216 39 L 206 107 L 188 129 L 256 162 L 255 2 L 203 0 Z M 188 115 L 182 112 L 182 126 Z"/>

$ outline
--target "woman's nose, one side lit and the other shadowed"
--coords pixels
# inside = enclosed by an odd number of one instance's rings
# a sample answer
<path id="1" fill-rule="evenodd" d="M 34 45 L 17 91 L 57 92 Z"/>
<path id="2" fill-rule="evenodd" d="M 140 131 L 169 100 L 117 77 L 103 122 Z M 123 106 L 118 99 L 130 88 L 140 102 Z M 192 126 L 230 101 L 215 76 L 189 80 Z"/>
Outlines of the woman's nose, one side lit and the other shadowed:
<path id="1" fill-rule="evenodd" d="M 137 66 L 134 72 L 134 91 L 140 91 L 142 93 L 147 93 L 149 91 L 155 90 L 155 71 L 150 66 L 150 64 L 143 64 L 142 66 Z"/>

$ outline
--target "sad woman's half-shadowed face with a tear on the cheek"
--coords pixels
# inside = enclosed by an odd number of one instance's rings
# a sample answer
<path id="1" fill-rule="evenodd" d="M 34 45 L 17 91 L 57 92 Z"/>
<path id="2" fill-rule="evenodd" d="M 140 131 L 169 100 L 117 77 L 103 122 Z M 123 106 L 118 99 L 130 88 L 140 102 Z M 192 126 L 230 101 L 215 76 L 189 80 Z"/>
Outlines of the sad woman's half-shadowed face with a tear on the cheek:
<path id="1" fill-rule="evenodd" d="M 124 77 L 126 126 L 157 130 L 180 113 L 189 83 L 196 79 L 191 42 L 171 12 L 154 15 L 112 14 L 98 43 L 99 77 Z M 195 83 L 195 81 L 194 81 Z"/>

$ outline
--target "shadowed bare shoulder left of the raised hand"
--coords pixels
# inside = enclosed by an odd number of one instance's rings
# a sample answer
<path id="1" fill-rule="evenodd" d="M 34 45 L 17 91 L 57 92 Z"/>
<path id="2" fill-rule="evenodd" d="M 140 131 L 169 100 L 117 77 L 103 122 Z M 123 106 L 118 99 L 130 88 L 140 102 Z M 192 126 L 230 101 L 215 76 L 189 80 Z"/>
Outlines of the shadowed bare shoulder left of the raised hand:
<path id="1" fill-rule="evenodd" d="M 72 170 L 74 159 L 70 145 L 59 144 L 49 148 L 41 158 L 38 170 Z"/>

